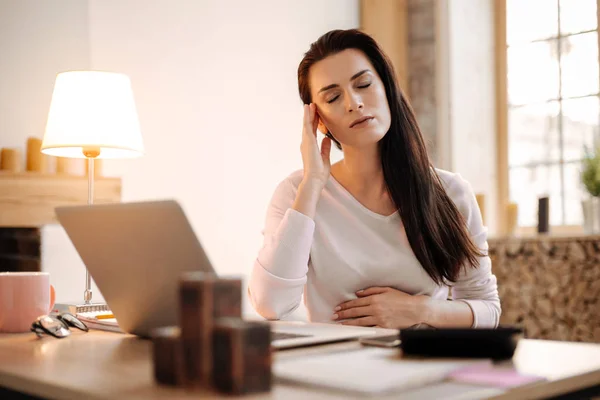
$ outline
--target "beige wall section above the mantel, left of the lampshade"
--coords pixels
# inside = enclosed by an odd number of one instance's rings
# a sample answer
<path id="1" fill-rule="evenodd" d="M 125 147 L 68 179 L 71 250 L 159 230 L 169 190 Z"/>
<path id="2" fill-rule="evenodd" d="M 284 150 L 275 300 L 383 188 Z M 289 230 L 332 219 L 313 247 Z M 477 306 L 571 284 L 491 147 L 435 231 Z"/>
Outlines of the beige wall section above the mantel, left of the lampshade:
<path id="1" fill-rule="evenodd" d="M 0 147 L 42 137 L 54 78 L 89 68 L 88 5 L 0 0 Z"/>

